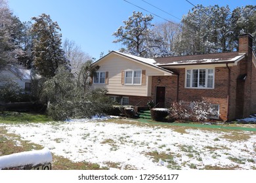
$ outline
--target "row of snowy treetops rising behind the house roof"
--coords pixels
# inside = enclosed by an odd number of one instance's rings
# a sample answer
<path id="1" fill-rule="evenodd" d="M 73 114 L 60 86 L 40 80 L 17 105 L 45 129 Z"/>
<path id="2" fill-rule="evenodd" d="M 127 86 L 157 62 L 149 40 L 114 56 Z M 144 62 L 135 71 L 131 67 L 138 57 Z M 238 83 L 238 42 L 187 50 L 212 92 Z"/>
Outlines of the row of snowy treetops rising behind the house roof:
<path id="1" fill-rule="evenodd" d="M 127 52 L 144 58 L 234 52 L 238 35 L 253 35 L 256 51 L 256 6 L 230 10 L 219 5 L 197 5 L 182 17 L 181 23 L 163 22 L 154 26 L 152 15 L 133 12 L 113 35 Z"/>

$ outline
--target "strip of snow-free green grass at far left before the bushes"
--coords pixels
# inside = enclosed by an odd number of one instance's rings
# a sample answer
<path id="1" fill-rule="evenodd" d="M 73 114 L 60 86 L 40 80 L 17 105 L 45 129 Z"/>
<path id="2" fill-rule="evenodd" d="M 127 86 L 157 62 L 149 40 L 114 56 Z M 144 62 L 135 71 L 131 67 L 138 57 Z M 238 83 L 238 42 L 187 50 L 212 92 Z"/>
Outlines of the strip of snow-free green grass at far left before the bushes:
<path id="1" fill-rule="evenodd" d="M 35 114 L 27 112 L 3 112 L 0 114 L 0 123 L 18 124 L 18 123 L 43 123 L 53 121 L 44 114 Z"/>

